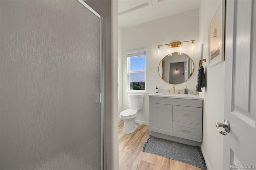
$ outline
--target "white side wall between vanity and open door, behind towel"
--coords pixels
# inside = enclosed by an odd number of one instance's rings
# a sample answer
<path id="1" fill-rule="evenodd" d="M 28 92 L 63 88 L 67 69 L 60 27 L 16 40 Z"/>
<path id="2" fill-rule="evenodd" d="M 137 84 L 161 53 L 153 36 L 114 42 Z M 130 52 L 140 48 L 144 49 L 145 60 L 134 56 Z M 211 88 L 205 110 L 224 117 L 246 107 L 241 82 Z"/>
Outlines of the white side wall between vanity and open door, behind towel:
<path id="1" fill-rule="evenodd" d="M 220 135 L 215 122 L 224 121 L 224 83 L 225 62 L 213 67 L 208 66 L 208 27 L 214 16 L 219 1 L 202 1 L 199 10 L 200 44 L 204 43 L 204 64 L 206 72 L 206 88 L 202 88 L 204 97 L 203 140 L 202 150 L 208 169 L 222 169 L 223 136 Z"/>

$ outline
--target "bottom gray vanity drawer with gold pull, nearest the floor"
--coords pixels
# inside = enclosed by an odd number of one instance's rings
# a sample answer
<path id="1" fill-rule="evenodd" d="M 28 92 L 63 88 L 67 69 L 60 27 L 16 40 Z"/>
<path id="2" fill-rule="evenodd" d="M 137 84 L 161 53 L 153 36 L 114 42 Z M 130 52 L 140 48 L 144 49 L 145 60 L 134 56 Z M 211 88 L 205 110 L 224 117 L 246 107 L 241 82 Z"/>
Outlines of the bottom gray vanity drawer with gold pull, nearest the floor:
<path id="1" fill-rule="evenodd" d="M 172 121 L 172 136 L 202 142 L 202 125 Z"/>

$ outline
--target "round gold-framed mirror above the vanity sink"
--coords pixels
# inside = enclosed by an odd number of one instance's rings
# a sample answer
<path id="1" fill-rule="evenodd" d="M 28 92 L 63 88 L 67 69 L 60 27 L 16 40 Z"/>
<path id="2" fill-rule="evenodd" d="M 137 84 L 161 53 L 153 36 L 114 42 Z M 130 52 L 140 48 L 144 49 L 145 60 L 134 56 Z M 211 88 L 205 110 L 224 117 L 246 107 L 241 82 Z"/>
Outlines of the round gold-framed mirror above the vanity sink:
<path id="1" fill-rule="evenodd" d="M 178 55 L 178 52 L 174 52 L 172 56 L 166 55 L 160 61 L 158 71 L 166 83 L 180 84 L 191 77 L 194 62 L 187 54 Z"/>

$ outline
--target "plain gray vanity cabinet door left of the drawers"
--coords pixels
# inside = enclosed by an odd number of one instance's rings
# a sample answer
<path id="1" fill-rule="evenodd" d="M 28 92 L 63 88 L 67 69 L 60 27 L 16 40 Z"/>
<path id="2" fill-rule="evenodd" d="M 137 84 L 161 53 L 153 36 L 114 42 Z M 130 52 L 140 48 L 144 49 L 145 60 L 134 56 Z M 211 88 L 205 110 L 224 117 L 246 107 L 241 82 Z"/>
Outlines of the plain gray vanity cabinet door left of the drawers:
<path id="1" fill-rule="evenodd" d="M 149 130 L 172 135 L 172 105 L 149 103 Z"/>

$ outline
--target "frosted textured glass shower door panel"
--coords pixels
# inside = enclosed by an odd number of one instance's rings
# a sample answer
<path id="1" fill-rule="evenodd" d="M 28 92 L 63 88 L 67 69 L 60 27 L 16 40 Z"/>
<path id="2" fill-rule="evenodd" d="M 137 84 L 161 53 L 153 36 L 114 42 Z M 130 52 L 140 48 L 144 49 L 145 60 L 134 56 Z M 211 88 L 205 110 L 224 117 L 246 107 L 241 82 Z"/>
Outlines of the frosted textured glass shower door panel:
<path id="1" fill-rule="evenodd" d="M 102 24 L 78 1 L 0 1 L 1 170 L 100 170 Z"/>

